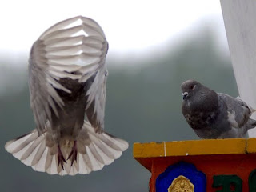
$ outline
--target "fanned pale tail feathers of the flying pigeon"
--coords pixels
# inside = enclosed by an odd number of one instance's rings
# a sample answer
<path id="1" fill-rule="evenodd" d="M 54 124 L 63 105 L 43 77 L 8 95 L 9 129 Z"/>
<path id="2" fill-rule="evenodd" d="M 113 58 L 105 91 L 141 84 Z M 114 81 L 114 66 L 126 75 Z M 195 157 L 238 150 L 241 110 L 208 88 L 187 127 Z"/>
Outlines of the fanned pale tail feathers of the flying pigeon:
<path id="1" fill-rule="evenodd" d="M 126 141 L 106 132 L 95 133 L 94 128 L 85 122 L 77 139 L 76 161 L 72 164 L 70 159 L 67 159 L 68 153 L 62 151 L 66 158 L 62 169 L 62 166 L 58 165 L 57 145 L 49 146 L 46 142 L 46 133 L 38 135 L 38 131 L 33 130 L 7 142 L 5 148 L 34 170 L 60 175 L 90 174 L 91 171 L 101 170 L 103 166 L 119 158 L 122 151 L 128 148 Z"/>

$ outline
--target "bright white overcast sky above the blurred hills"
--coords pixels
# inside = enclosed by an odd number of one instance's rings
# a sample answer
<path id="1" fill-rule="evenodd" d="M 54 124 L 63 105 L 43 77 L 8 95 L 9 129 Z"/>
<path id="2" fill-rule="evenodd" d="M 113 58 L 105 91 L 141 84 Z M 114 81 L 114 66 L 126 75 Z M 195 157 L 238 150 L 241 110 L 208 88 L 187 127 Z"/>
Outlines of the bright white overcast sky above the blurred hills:
<path id="1" fill-rule="evenodd" d="M 106 34 L 111 53 L 143 51 L 175 41 L 194 24 L 213 18 L 225 34 L 218 0 L 167 1 L 5 1 L 0 11 L 0 53 L 14 58 L 29 53 L 33 42 L 48 27 L 77 15 L 93 18 Z"/>

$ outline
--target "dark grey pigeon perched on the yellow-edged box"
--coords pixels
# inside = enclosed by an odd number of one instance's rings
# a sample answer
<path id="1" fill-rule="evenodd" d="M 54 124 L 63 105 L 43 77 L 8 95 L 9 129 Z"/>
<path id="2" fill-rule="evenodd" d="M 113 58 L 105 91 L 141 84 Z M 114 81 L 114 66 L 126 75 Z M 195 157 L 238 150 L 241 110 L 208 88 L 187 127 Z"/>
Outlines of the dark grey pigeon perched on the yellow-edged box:
<path id="1" fill-rule="evenodd" d="M 182 83 L 182 114 L 200 138 L 246 138 L 255 111 L 240 98 L 218 94 L 200 82 Z"/>

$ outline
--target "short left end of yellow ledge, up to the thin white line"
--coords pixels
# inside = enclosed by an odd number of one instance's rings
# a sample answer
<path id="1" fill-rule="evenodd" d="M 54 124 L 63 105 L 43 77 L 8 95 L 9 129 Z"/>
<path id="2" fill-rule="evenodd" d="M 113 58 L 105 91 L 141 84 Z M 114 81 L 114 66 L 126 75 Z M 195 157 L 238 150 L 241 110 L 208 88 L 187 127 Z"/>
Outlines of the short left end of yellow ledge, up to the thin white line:
<path id="1" fill-rule="evenodd" d="M 134 143 L 134 158 L 162 157 L 164 154 L 164 142 Z"/>

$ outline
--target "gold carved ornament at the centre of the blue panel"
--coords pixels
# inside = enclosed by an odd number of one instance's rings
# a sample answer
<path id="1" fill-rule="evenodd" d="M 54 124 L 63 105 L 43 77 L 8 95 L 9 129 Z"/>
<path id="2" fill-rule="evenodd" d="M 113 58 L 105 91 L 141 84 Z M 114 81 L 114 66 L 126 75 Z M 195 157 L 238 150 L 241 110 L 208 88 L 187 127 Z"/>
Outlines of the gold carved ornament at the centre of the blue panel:
<path id="1" fill-rule="evenodd" d="M 194 185 L 190 179 L 180 175 L 171 183 L 168 192 L 194 192 Z"/>

